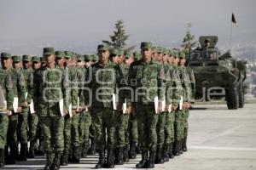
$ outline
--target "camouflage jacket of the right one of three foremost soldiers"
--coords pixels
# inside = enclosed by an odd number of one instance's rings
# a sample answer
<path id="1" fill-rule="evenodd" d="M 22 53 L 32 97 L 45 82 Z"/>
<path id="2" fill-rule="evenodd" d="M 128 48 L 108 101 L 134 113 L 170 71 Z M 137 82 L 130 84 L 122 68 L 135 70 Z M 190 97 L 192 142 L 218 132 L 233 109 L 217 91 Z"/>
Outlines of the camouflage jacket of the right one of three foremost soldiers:
<path id="1" fill-rule="evenodd" d="M 148 64 L 142 59 L 132 63 L 128 75 L 128 84 L 133 89 L 131 101 L 147 105 L 154 102 L 155 97 L 163 100 L 164 80 L 163 66 L 153 60 Z"/>

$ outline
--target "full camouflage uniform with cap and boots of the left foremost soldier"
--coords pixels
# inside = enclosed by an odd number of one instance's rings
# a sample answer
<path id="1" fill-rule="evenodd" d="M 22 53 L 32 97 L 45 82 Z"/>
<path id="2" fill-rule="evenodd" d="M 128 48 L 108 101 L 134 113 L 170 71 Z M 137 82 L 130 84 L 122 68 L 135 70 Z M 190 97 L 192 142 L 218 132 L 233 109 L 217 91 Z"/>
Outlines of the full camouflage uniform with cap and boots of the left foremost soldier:
<path id="1" fill-rule="evenodd" d="M 44 57 L 55 55 L 54 48 L 44 48 Z M 37 101 L 36 107 L 43 124 L 44 150 L 47 163 L 44 169 L 59 168 L 62 150 L 64 149 L 63 128 L 64 118 L 61 116 L 59 101 L 63 99 L 64 110 L 67 111 L 69 85 L 67 77 L 56 65 L 50 69 L 43 66 L 36 71 L 34 77 L 34 90 Z M 52 151 L 55 150 L 55 158 L 52 162 Z"/>

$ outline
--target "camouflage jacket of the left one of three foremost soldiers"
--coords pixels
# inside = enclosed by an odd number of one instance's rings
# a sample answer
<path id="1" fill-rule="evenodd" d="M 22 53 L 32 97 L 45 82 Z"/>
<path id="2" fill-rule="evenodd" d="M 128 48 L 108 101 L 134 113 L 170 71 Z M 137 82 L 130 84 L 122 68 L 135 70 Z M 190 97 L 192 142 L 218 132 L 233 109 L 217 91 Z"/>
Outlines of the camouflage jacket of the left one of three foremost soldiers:
<path id="1" fill-rule="evenodd" d="M 68 109 L 69 84 L 65 71 L 55 65 L 54 69 L 43 66 L 35 71 L 33 78 L 34 99 L 38 102 L 35 111 L 39 116 L 60 116 L 59 101 L 64 100 L 64 109 Z M 55 109 L 56 111 L 50 113 Z"/>

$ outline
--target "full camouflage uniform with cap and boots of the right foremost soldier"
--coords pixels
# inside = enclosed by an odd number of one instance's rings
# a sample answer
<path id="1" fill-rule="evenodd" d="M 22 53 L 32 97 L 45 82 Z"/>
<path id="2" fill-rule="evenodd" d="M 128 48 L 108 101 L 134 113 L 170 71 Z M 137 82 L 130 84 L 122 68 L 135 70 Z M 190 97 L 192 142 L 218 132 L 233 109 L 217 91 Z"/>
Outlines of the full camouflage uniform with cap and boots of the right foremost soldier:
<path id="1" fill-rule="evenodd" d="M 151 42 L 142 42 L 141 48 L 149 50 L 152 48 L 152 44 Z M 134 95 L 137 99 L 133 105 L 137 113 L 139 139 L 143 151 L 143 159 L 137 164 L 137 167 L 154 167 L 158 121 L 158 114 L 154 110 L 154 98 L 163 99 L 161 88 L 164 78 L 163 68 L 154 63 L 152 59 L 148 64 L 140 59 L 132 63 L 130 67 L 128 82 L 137 92 Z M 149 157 L 147 156 L 148 150 Z"/>

